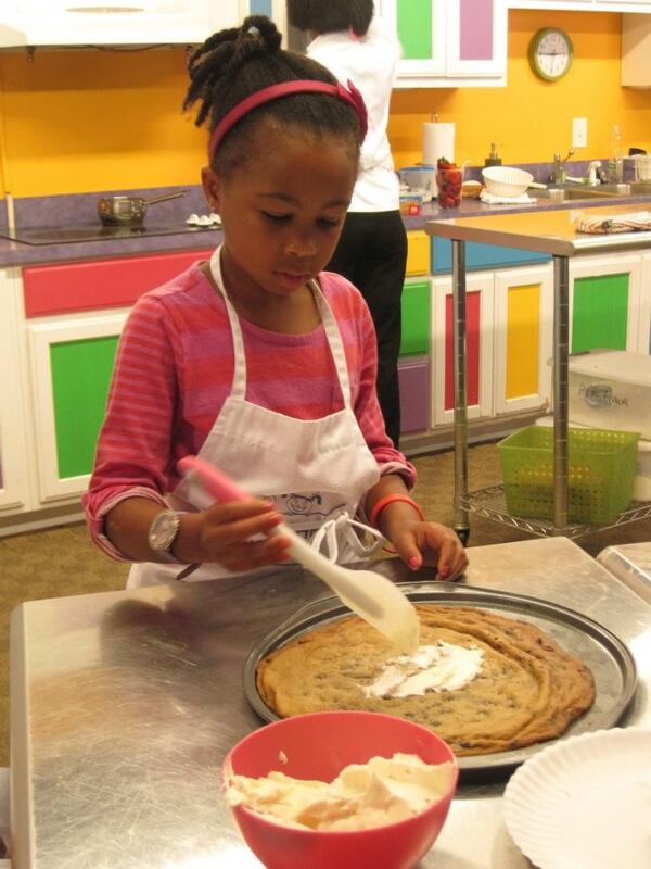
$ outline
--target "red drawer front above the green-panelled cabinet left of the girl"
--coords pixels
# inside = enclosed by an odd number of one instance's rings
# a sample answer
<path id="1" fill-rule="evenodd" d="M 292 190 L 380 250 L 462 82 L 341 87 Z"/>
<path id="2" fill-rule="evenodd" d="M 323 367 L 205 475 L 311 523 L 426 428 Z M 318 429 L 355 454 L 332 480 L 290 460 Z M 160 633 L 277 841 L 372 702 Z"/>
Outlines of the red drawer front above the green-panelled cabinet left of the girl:
<path id="1" fill-rule="evenodd" d="M 132 304 L 142 293 L 179 275 L 212 250 L 116 257 L 23 269 L 27 317 L 97 311 Z"/>

